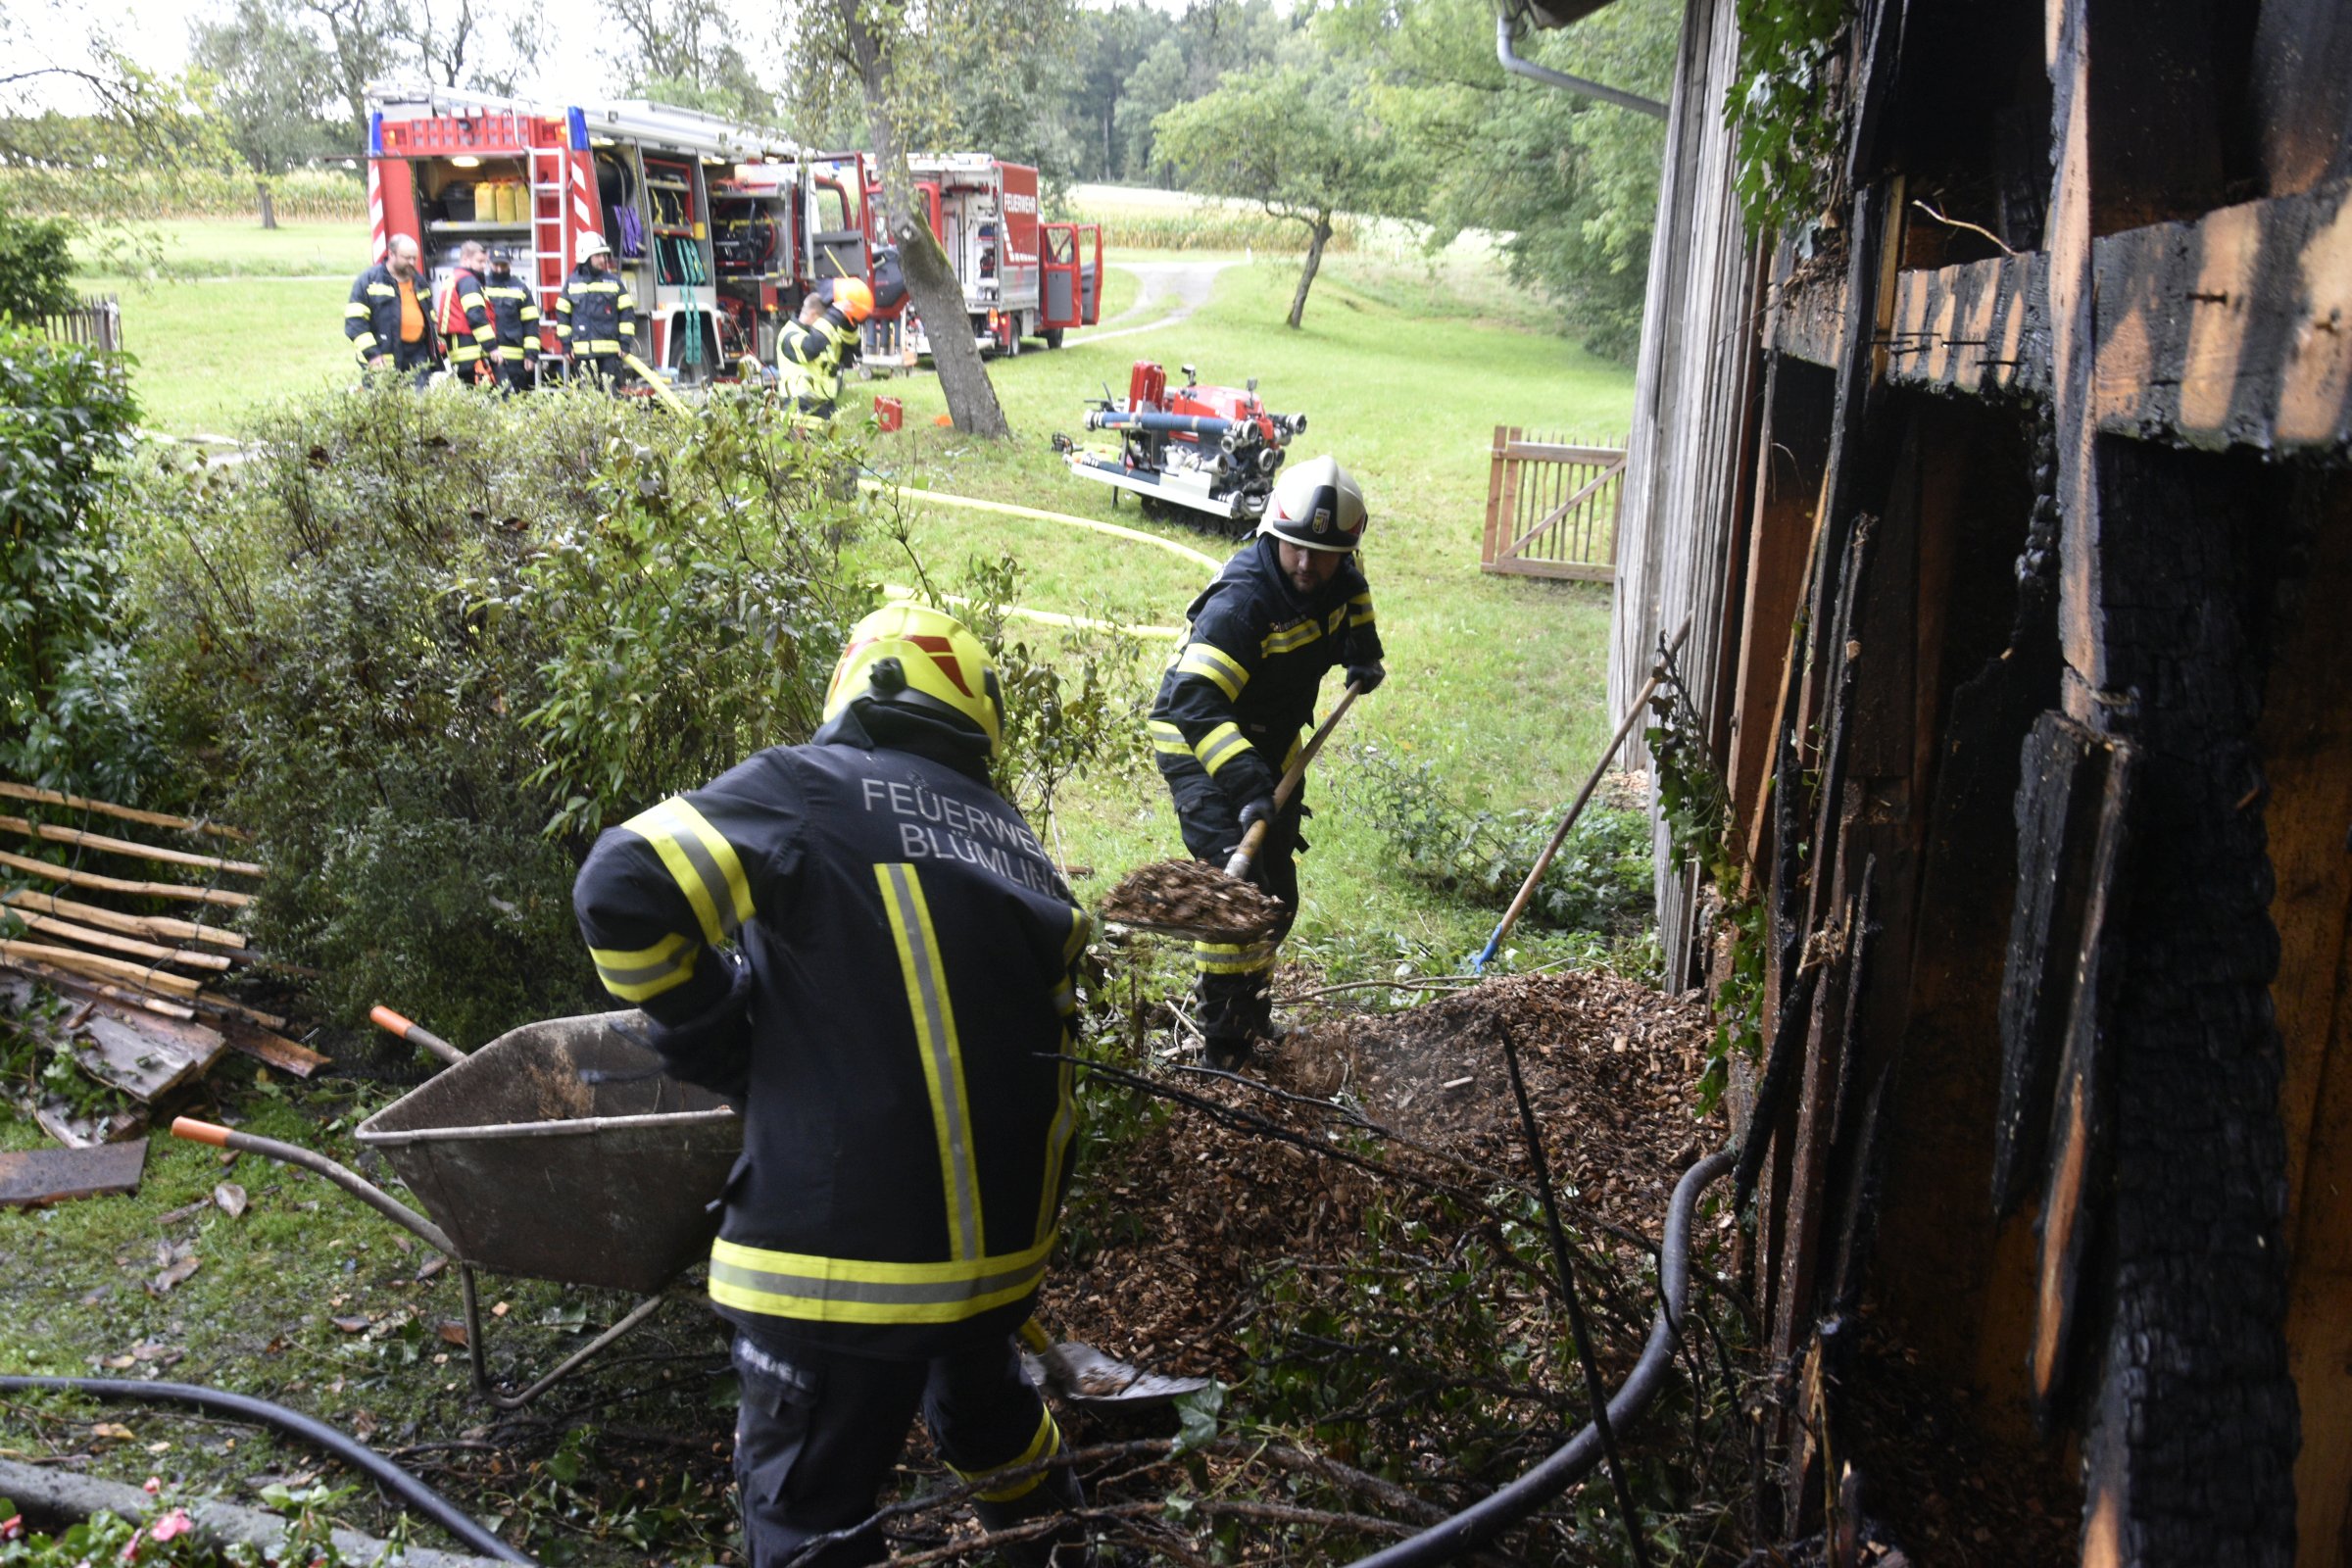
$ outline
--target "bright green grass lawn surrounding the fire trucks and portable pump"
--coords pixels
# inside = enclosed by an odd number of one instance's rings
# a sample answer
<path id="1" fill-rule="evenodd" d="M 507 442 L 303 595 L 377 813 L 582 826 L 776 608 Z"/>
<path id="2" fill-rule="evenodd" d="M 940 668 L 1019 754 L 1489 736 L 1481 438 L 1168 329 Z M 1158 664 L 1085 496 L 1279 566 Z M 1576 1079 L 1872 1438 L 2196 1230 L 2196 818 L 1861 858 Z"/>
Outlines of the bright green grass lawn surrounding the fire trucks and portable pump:
<path id="1" fill-rule="evenodd" d="M 303 273 L 334 256 L 355 268 L 365 242 L 353 230 L 310 223 L 261 233 L 226 221 L 158 228 L 169 230 L 191 273 L 209 270 L 214 280 L 89 280 L 122 292 L 151 428 L 233 435 L 256 407 L 348 376 L 346 273 L 325 282 Z M 1136 296 L 1136 277 L 1122 261 L 1171 259 L 1112 254 L 1105 317 Z M 1494 811 L 1552 809 L 1573 790 L 1611 726 L 1602 715 L 1609 595 L 1479 574 L 1486 442 L 1498 423 L 1585 437 L 1623 433 L 1632 376 L 1562 336 L 1524 329 L 1519 301 L 1498 287 L 1477 247 L 1439 259 L 1409 247 L 1336 256 L 1315 287 L 1303 331 L 1282 324 L 1296 284 L 1294 256 L 1181 259 L 1228 261 L 1214 299 L 1190 320 L 993 362 L 1016 430 L 1011 442 L 974 442 L 934 425 L 946 404 L 929 374 L 854 386 L 854 404 L 875 393 L 906 402 L 906 430 L 875 437 L 873 465 L 917 487 L 1143 527 L 1221 557 L 1230 543 L 1148 524 L 1134 498 L 1112 505 L 1110 489 L 1073 477 L 1049 435 L 1082 435 L 1084 400 L 1105 386 L 1124 393 L 1129 364 L 1145 357 L 1164 362 L 1171 376 L 1178 364 L 1195 364 L 1204 381 L 1258 376 L 1268 407 L 1308 414 L 1294 456 L 1336 454 L 1371 503 L 1364 562 L 1392 679 L 1357 708 L 1310 780 L 1319 813 L 1308 830 L 1315 849 L 1301 936 L 1336 940 L 1355 957 L 1399 945 L 1458 954 L 1484 936 L 1494 912 L 1395 875 L 1381 835 L 1345 804 L 1350 748 L 1381 745 L 1404 762 L 1432 762 L 1458 797 Z M 1141 327 L 1152 315 L 1117 327 Z M 1181 623 L 1207 576 L 1145 545 L 981 512 L 917 510 L 913 536 L 934 578 L 953 581 L 969 557 L 1009 550 L 1023 564 L 1030 607 L 1145 625 Z M 894 548 L 870 543 L 861 564 L 875 581 L 910 581 Z M 1070 860 L 1098 867 L 1091 889 L 1082 889 L 1096 896 L 1120 870 L 1176 849 L 1155 780 L 1082 783 L 1065 795 L 1056 827 Z"/>

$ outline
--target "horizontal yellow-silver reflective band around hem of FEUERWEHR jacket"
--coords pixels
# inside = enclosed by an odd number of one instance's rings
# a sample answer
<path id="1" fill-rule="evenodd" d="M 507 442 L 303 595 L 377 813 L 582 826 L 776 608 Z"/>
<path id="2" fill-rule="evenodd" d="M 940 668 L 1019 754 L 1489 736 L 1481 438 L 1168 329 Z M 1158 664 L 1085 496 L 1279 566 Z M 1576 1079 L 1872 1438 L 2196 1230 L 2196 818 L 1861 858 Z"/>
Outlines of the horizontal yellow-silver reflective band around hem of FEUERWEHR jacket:
<path id="1" fill-rule="evenodd" d="M 818 1324 L 960 1324 L 1016 1302 L 1044 1279 L 1061 1232 L 1004 1258 L 868 1262 L 710 1244 L 710 1300 Z"/>

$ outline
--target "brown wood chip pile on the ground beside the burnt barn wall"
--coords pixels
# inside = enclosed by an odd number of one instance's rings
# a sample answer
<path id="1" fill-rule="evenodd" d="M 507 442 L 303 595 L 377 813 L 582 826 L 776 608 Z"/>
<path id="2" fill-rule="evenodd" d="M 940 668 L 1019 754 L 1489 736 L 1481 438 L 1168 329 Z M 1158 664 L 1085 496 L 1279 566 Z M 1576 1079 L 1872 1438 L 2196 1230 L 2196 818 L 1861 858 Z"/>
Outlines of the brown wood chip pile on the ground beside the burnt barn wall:
<path id="1" fill-rule="evenodd" d="M 1402 1013 L 1298 1027 L 1251 1070 L 1256 1081 L 1160 1074 L 1317 1143 L 1341 1126 L 1329 1105 L 1338 1098 L 1395 1133 L 1371 1147 L 1390 1166 L 1470 1187 L 1484 1187 L 1484 1173 L 1534 1192 L 1501 1030 L 1519 1051 L 1564 1220 L 1583 1244 L 1632 1267 L 1635 1251 L 1606 1227 L 1656 1239 L 1675 1180 L 1726 1138 L 1719 1114 L 1693 1114 L 1710 1039 L 1696 997 L 1670 999 L 1595 971 L 1515 976 Z M 1477 1173 L 1465 1175 L 1463 1161 Z M 1376 1173 L 1188 1107 L 1089 1180 L 1122 1222 L 1101 1227 L 1087 1206 L 1073 1211 L 1073 1225 L 1091 1222 L 1098 1234 L 1082 1241 L 1077 1265 L 1047 1274 L 1042 1321 L 1155 1373 L 1228 1382 L 1249 1371 L 1235 1328 L 1263 1309 L 1265 1279 L 1284 1265 L 1359 1260 L 1367 1204 L 1383 1187 L 1390 1199 L 1409 1197 Z"/>

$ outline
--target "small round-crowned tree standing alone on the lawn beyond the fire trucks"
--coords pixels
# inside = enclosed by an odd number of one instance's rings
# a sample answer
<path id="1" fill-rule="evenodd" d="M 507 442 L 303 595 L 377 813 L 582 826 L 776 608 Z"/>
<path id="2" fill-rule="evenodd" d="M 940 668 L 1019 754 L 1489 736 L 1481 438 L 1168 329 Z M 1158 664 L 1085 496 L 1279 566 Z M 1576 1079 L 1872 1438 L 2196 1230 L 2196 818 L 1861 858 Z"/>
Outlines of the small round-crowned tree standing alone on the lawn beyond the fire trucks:
<path id="1" fill-rule="evenodd" d="M 1190 190 L 1251 200 L 1308 230 L 1291 329 L 1305 322 L 1334 219 L 1390 212 L 1411 186 L 1409 148 L 1364 113 L 1359 85 L 1289 63 L 1237 71 L 1209 96 L 1160 115 L 1152 160 Z"/>

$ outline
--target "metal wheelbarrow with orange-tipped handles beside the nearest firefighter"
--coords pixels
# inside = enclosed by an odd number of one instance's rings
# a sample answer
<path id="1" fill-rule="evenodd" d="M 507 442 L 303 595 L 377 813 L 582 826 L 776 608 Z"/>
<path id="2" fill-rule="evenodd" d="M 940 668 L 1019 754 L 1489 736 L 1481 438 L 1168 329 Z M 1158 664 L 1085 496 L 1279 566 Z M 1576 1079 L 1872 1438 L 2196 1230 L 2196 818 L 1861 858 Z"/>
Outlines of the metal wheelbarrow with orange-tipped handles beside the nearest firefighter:
<path id="1" fill-rule="evenodd" d="M 743 1124 L 710 1091 L 663 1074 L 642 1030 L 635 1009 L 529 1023 L 362 1121 L 353 1138 L 390 1161 L 426 1213 L 292 1143 L 188 1117 L 172 1135 L 318 1171 L 456 1262 L 473 1389 L 515 1410 L 649 1319 L 717 1232 L 715 1199 L 743 1152 Z M 475 1269 L 642 1300 L 543 1378 L 501 1394 L 482 1354 Z"/>

